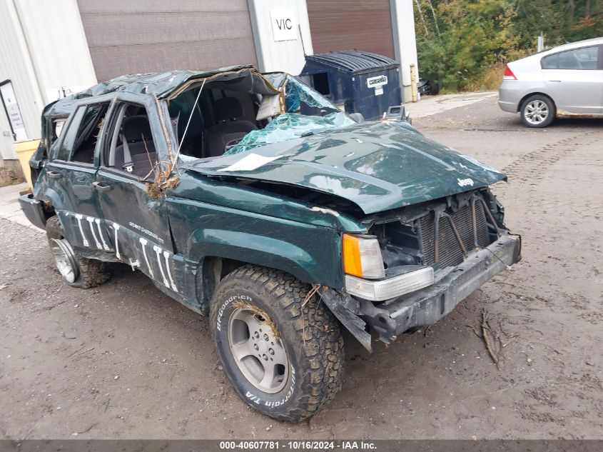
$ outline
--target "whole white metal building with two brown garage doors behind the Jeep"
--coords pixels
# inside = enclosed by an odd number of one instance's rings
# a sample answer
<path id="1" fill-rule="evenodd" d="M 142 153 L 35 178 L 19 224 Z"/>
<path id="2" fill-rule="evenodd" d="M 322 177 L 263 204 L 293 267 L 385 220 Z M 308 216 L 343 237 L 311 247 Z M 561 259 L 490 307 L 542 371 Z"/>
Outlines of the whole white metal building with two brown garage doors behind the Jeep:
<path id="1" fill-rule="evenodd" d="M 254 64 L 299 74 L 305 54 L 359 49 L 417 64 L 412 0 L 0 0 L 0 166 L 40 135 L 46 104 L 98 81 Z"/>

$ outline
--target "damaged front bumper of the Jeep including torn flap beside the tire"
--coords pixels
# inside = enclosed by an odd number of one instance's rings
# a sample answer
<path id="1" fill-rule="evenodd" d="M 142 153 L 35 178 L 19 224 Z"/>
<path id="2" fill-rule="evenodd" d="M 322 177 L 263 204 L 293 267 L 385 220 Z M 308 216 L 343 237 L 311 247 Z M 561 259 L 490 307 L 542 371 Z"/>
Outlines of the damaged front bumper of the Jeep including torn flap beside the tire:
<path id="1" fill-rule="evenodd" d="M 320 295 L 343 326 L 371 351 L 366 325 L 381 341 L 391 343 L 410 328 L 433 325 L 486 281 L 520 259 L 521 237 L 505 233 L 487 248 L 468 253 L 458 266 L 436 272 L 432 286 L 419 291 L 383 303 L 331 288 L 321 288 Z"/>

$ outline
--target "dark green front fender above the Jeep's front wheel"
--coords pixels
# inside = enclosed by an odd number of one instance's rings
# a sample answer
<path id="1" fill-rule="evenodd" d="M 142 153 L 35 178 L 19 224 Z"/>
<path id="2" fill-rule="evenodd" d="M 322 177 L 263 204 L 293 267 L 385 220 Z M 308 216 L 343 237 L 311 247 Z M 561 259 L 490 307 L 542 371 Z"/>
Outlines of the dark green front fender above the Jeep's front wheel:
<path id="1" fill-rule="evenodd" d="M 307 283 L 343 287 L 341 236 L 333 228 L 188 199 L 171 198 L 167 206 L 176 246 L 192 261 L 231 258 L 278 268 Z"/>

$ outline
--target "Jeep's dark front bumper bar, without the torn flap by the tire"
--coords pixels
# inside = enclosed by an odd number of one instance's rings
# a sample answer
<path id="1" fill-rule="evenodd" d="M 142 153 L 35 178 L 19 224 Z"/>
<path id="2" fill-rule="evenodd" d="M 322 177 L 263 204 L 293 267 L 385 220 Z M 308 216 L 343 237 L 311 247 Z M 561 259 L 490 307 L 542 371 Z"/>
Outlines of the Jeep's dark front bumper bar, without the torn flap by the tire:
<path id="1" fill-rule="evenodd" d="M 410 328 L 436 323 L 486 281 L 520 259 L 521 237 L 503 235 L 487 248 L 469 253 L 463 263 L 428 288 L 377 305 L 360 300 L 360 318 L 382 341 L 390 343 Z"/>

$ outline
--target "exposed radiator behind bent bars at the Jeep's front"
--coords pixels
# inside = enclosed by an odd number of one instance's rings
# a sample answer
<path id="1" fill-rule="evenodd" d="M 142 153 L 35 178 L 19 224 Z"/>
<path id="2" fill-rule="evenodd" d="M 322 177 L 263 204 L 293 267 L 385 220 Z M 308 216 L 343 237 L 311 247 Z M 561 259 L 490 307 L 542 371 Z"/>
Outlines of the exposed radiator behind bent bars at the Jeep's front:
<path id="1" fill-rule="evenodd" d="M 475 248 L 473 238 L 473 221 L 471 217 L 471 206 L 464 206 L 456 212 L 447 212 L 452 217 L 452 221 L 457 228 L 461 241 L 467 251 Z M 475 202 L 475 218 L 477 223 L 477 244 L 479 246 L 490 245 L 490 235 L 486 222 L 486 214 L 483 204 L 476 200 Z M 423 253 L 425 254 L 425 263 L 427 265 L 435 264 L 435 214 L 430 211 L 429 214 L 422 216 L 419 221 L 419 230 Z M 444 216 L 440 217 L 439 226 L 439 251 L 440 258 L 438 261 L 440 268 L 447 266 L 455 266 L 462 262 L 463 254 L 459 246 L 455 233 L 450 227 L 450 223 Z"/>

